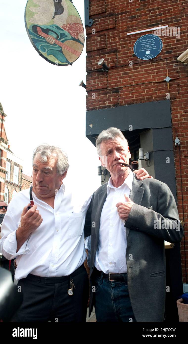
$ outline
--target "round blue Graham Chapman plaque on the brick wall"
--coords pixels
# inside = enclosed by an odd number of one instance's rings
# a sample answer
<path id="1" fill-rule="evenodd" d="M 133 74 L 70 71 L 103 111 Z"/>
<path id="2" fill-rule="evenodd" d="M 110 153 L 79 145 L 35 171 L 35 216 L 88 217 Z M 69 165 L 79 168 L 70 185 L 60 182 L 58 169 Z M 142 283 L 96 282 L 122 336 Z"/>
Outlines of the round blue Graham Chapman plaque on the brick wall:
<path id="1" fill-rule="evenodd" d="M 161 53 L 163 42 L 160 37 L 147 34 L 134 43 L 134 54 L 141 60 L 151 60 Z"/>

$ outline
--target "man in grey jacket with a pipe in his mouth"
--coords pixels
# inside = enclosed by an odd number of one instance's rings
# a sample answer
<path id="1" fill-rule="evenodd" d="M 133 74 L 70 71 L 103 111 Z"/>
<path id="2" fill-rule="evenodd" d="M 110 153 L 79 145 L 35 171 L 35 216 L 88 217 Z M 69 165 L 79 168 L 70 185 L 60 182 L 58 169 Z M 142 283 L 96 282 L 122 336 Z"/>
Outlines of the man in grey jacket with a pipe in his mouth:
<path id="1" fill-rule="evenodd" d="M 165 311 L 164 240 L 183 238 L 175 199 L 155 179 L 137 180 L 128 142 L 103 130 L 96 147 L 111 174 L 91 198 L 85 236 L 91 235 L 90 306 L 97 321 L 162 322 Z"/>

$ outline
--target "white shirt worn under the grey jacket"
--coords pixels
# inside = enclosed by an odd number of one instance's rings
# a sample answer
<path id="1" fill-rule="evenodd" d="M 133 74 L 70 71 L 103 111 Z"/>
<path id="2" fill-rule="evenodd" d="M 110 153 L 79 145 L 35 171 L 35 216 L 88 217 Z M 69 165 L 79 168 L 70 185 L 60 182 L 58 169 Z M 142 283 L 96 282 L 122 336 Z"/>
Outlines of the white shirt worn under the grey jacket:
<path id="1" fill-rule="evenodd" d="M 95 267 L 104 273 L 124 273 L 126 269 L 126 233 L 125 221 L 121 220 L 117 203 L 125 203 L 124 194 L 130 195 L 134 174 L 130 170 L 124 183 L 119 187 L 112 185 L 110 177 L 107 185 L 107 198 L 104 202 L 98 239 L 98 249 L 95 258 Z"/>

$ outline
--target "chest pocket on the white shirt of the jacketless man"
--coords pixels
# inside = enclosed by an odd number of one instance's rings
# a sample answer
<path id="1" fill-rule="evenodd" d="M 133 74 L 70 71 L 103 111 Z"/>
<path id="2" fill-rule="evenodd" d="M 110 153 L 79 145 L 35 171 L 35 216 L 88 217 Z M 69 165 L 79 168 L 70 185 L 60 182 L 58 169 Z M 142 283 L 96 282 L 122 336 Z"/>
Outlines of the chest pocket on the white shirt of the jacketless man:
<path id="1" fill-rule="evenodd" d="M 83 230 L 83 216 L 82 213 L 68 214 L 68 235 L 69 238 L 74 238 L 82 235 Z"/>

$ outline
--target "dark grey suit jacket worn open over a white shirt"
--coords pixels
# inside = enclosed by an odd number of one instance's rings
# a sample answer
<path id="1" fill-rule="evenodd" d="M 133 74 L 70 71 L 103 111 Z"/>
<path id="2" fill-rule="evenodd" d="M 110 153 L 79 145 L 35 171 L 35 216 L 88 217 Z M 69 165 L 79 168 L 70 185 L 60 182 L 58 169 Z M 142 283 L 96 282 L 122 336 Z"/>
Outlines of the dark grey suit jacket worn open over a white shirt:
<path id="1" fill-rule="evenodd" d="M 86 214 L 85 237 L 91 235 L 89 316 L 95 304 L 92 273 L 99 238 L 100 216 L 106 197 L 107 183 L 93 193 Z M 179 220 L 177 206 L 166 184 L 150 178 L 141 181 L 134 176 L 130 198 L 134 205 L 125 222 L 125 259 L 133 313 L 139 322 L 162 322 L 166 292 L 164 240 L 179 243 L 184 230 L 182 226 L 175 227 L 175 221 Z M 159 229 L 155 229 L 157 223 Z"/>

